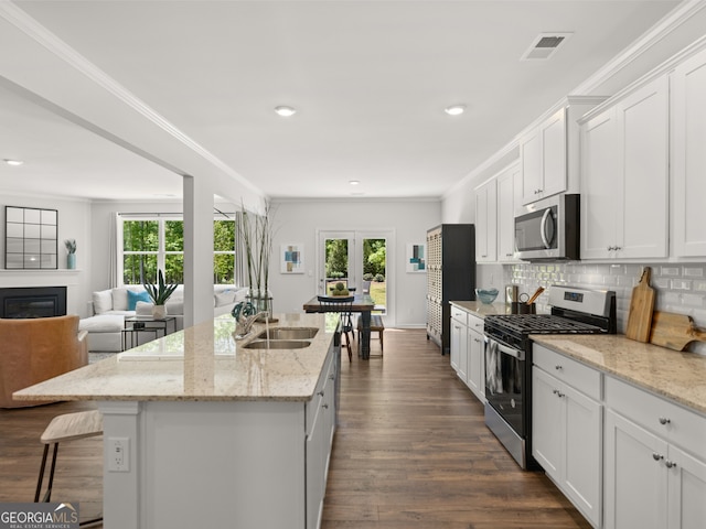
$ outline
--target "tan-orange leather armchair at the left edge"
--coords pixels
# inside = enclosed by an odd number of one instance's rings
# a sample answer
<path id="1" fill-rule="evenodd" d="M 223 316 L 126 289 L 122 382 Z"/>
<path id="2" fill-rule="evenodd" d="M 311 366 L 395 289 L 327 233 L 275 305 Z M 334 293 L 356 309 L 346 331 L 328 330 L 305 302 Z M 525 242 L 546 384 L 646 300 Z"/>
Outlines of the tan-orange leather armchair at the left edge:
<path id="1" fill-rule="evenodd" d="M 76 315 L 0 319 L 0 408 L 47 403 L 13 400 L 12 393 L 87 365 L 86 336 Z"/>

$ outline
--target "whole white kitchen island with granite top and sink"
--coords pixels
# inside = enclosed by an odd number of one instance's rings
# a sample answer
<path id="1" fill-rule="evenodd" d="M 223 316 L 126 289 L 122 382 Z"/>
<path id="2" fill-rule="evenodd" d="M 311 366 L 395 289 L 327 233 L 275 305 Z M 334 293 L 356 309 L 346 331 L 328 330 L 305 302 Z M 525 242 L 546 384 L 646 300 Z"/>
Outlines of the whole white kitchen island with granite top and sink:
<path id="1" fill-rule="evenodd" d="M 235 341 L 233 317 L 222 316 L 15 398 L 97 401 L 107 529 L 315 528 L 335 429 L 339 316 L 275 316 L 271 327 L 319 331 L 303 348 L 247 348 L 265 325 Z"/>

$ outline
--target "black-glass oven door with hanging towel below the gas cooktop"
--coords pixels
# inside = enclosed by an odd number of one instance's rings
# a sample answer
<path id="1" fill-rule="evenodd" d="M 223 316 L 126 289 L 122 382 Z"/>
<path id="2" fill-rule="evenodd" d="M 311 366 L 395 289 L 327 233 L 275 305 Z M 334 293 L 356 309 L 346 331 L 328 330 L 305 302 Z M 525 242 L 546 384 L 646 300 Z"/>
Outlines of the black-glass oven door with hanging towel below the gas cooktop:
<path id="1" fill-rule="evenodd" d="M 520 435 L 525 438 L 525 352 L 486 337 L 485 398 Z"/>

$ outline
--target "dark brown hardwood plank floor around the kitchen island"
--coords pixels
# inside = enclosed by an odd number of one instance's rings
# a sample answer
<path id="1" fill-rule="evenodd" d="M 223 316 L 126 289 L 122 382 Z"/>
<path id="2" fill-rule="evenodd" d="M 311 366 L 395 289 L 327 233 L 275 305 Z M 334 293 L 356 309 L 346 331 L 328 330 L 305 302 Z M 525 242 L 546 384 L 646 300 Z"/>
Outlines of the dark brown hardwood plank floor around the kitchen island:
<path id="1" fill-rule="evenodd" d="M 386 330 L 383 359 L 344 352 L 341 386 L 322 529 L 590 527 L 543 473 L 517 467 L 424 331 Z M 42 431 L 90 408 L 0 410 L 0 503 L 32 501 Z M 100 512 L 101 457 L 101 438 L 60 447 L 53 499 L 78 501 L 82 519 Z"/>

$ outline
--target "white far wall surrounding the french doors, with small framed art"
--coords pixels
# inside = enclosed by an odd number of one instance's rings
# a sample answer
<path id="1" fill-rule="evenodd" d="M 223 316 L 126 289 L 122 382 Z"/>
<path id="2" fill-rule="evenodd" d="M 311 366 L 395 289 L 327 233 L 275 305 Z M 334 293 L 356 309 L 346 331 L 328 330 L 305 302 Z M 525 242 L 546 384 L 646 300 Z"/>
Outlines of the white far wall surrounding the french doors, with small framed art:
<path id="1" fill-rule="evenodd" d="M 270 290 L 275 312 L 301 312 L 301 305 L 317 294 L 317 230 L 393 229 L 395 231 L 394 291 L 396 326 L 424 326 L 427 321 L 427 276 L 407 273 L 404 256 L 408 242 L 424 242 L 427 229 L 441 224 L 439 201 L 311 201 L 272 202 L 274 259 Z M 304 245 L 303 274 L 279 271 L 280 245 Z"/>

